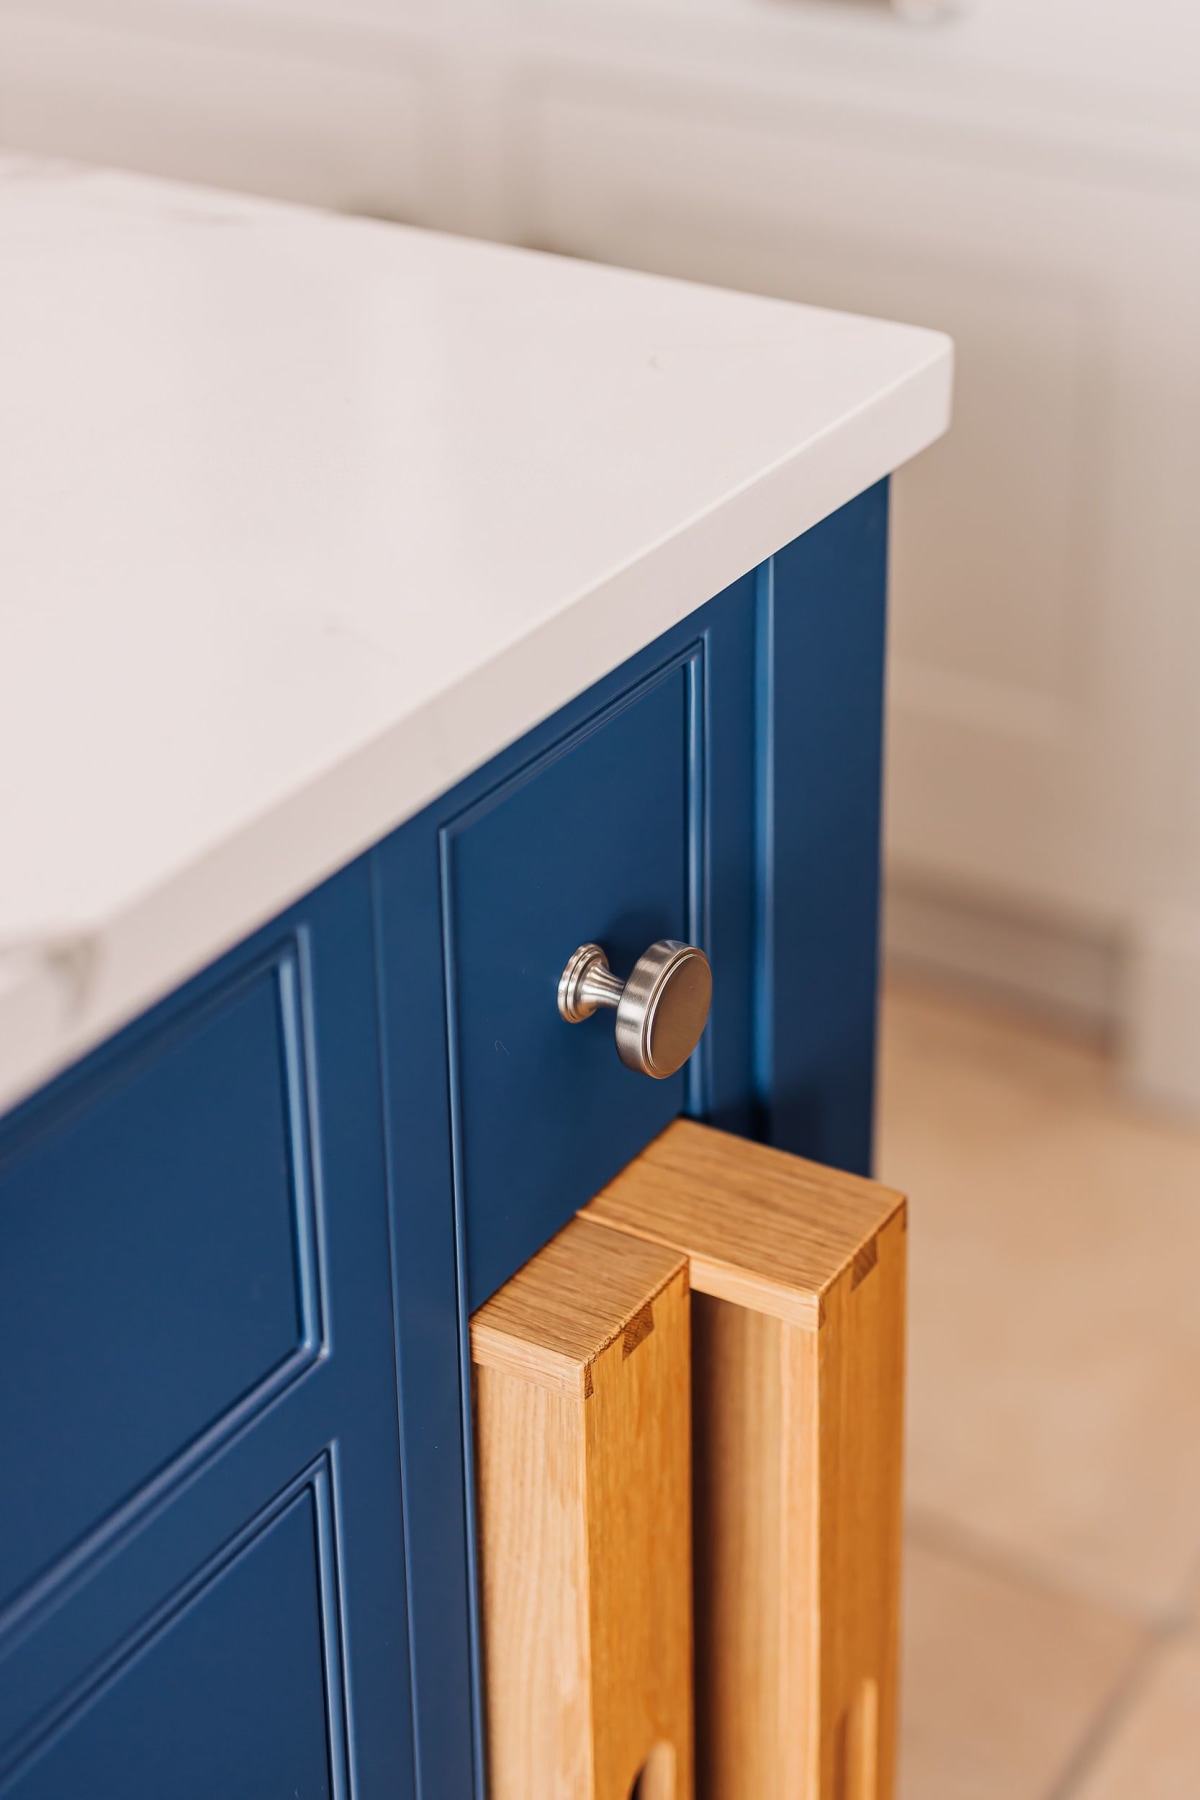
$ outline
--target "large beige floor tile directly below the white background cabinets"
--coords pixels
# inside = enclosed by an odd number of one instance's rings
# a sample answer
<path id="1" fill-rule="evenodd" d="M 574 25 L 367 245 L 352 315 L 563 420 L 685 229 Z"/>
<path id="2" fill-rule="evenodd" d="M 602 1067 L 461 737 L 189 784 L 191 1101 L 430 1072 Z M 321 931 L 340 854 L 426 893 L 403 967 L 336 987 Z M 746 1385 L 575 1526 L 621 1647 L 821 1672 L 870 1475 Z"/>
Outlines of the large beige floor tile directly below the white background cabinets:
<path id="1" fill-rule="evenodd" d="M 919 992 L 889 995 L 880 1085 L 880 1174 L 912 1195 L 910 1503 L 1175 1615 L 1200 1557 L 1200 1136 L 1141 1118 L 1096 1051 Z"/>

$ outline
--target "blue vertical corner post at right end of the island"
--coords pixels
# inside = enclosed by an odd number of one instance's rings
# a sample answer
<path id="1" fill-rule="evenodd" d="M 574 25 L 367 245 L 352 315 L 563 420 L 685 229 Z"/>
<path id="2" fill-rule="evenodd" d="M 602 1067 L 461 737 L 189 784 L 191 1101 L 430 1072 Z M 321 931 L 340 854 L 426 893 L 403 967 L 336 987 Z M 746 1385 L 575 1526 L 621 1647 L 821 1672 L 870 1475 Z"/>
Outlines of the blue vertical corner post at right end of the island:
<path id="1" fill-rule="evenodd" d="M 759 576 L 759 1134 L 871 1172 L 887 482 Z"/>

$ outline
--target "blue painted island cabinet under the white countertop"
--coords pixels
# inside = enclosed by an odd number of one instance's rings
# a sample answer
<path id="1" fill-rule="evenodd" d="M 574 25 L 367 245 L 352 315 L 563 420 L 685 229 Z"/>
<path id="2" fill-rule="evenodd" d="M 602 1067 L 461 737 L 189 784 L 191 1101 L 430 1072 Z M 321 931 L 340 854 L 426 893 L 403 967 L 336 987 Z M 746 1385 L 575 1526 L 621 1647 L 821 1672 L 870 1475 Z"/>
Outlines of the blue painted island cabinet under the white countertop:
<path id="1" fill-rule="evenodd" d="M 464 1800 L 466 1319 L 676 1112 L 865 1168 L 885 486 L 0 1121 L 0 1796 Z M 705 947 L 630 1073 L 554 990 Z"/>

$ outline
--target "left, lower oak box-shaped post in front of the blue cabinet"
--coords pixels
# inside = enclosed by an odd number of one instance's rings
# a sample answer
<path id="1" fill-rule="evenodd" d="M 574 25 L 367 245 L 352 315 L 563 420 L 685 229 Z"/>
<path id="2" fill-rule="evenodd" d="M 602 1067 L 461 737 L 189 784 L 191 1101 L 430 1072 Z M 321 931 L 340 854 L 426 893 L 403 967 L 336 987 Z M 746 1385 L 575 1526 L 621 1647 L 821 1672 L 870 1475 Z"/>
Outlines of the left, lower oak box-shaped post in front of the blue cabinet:
<path id="1" fill-rule="evenodd" d="M 491 1800 L 693 1800 L 687 1260 L 572 1220 L 471 1361 Z"/>

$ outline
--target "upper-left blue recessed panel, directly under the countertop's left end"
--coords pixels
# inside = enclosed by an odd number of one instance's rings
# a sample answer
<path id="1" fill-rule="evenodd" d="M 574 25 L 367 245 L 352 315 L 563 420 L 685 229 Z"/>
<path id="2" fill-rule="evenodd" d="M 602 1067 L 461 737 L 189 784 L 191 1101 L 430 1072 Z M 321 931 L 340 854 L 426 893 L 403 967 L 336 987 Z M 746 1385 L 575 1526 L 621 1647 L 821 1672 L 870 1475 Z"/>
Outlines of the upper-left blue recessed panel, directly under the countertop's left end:
<path id="1" fill-rule="evenodd" d="M 317 1354 L 297 986 L 284 949 L 0 1170 L 0 1615 Z"/>

